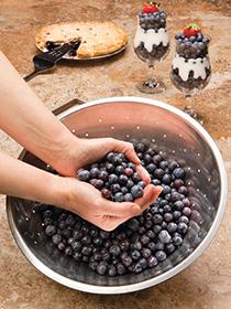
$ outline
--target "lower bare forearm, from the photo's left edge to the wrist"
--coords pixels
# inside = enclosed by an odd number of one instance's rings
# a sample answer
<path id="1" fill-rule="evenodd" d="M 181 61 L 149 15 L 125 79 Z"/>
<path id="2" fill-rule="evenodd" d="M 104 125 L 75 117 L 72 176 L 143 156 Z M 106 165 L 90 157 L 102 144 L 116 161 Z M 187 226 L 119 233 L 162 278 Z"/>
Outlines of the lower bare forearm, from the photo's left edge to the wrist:
<path id="1" fill-rule="evenodd" d="M 58 205 L 62 190 L 61 177 L 0 152 L 0 193 Z"/>

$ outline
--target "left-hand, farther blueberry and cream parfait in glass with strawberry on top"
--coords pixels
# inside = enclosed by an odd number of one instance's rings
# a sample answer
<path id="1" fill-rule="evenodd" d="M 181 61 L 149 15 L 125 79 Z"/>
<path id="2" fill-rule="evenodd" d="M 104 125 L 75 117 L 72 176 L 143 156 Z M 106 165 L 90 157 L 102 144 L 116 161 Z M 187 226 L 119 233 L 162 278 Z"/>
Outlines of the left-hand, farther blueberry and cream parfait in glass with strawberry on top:
<path id="1" fill-rule="evenodd" d="M 164 60 L 169 51 L 166 19 L 166 12 L 161 10 L 156 2 L 145 3 L 142 12 L 138 14 L 134 51 L 148 67 L 154 67 L 156 62 Z M 146 94 L 156 94 L 162 93 L 165 86 L 163 82 L 151 77 L 139 84 L 138 88 Z"/>

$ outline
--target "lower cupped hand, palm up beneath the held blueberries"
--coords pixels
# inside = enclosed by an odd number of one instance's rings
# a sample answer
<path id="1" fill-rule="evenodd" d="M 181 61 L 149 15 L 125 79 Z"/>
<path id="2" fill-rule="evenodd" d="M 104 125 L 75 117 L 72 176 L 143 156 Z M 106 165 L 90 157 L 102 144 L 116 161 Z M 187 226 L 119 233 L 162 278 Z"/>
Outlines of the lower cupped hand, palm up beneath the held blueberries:
<path id="1" fill-rule="evenodd" d="M 100 191 L 89 183 L 74 178 L 61 177 L 59 180 L 64 191 L 59 206 L 106 231 L 112 231 L 127 220 L 140 215 L 162 192 L 162 187 L 148 184 L 142 198 L 134 202 L 117 203 L 102 198 Z"/>

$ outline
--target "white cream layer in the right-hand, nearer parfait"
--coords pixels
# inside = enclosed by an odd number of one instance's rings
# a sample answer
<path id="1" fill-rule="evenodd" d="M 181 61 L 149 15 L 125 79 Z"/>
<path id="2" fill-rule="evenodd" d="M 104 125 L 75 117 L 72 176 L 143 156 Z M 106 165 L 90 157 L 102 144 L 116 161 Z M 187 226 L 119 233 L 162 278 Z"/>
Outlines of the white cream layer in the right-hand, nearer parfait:
<path id="1" fill-rule="evenodd" d="M 201 77 L 206 79 L 206 68 L 210 68 L 209 57 L 188 58 L 176 54 L 173 61 L 173 68 L 178 68 L 178 74 L 184 82 L 188 81 L 190 71 L 194 72 L 194 78 Z"/>

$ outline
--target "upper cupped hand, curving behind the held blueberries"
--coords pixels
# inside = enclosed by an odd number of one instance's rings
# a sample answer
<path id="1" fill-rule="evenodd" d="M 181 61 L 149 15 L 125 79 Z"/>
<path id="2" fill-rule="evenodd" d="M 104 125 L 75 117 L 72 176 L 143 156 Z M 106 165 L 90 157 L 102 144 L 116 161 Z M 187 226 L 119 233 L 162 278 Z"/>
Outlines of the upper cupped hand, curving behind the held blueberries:
<path id="1" fill-rule="evenodd" d="M 52 166 L 63 175 L 75 177 L 79 168 L 97 162 L 110 151 L 124 153 L 131 162 L 136 164 L 138 173 L 145 183 L 150 183 L 148 172 L 141 166 L 133 145 L 113 138 L 80 139 L 73 136 L 59 158 L 54 158 Z"/>

